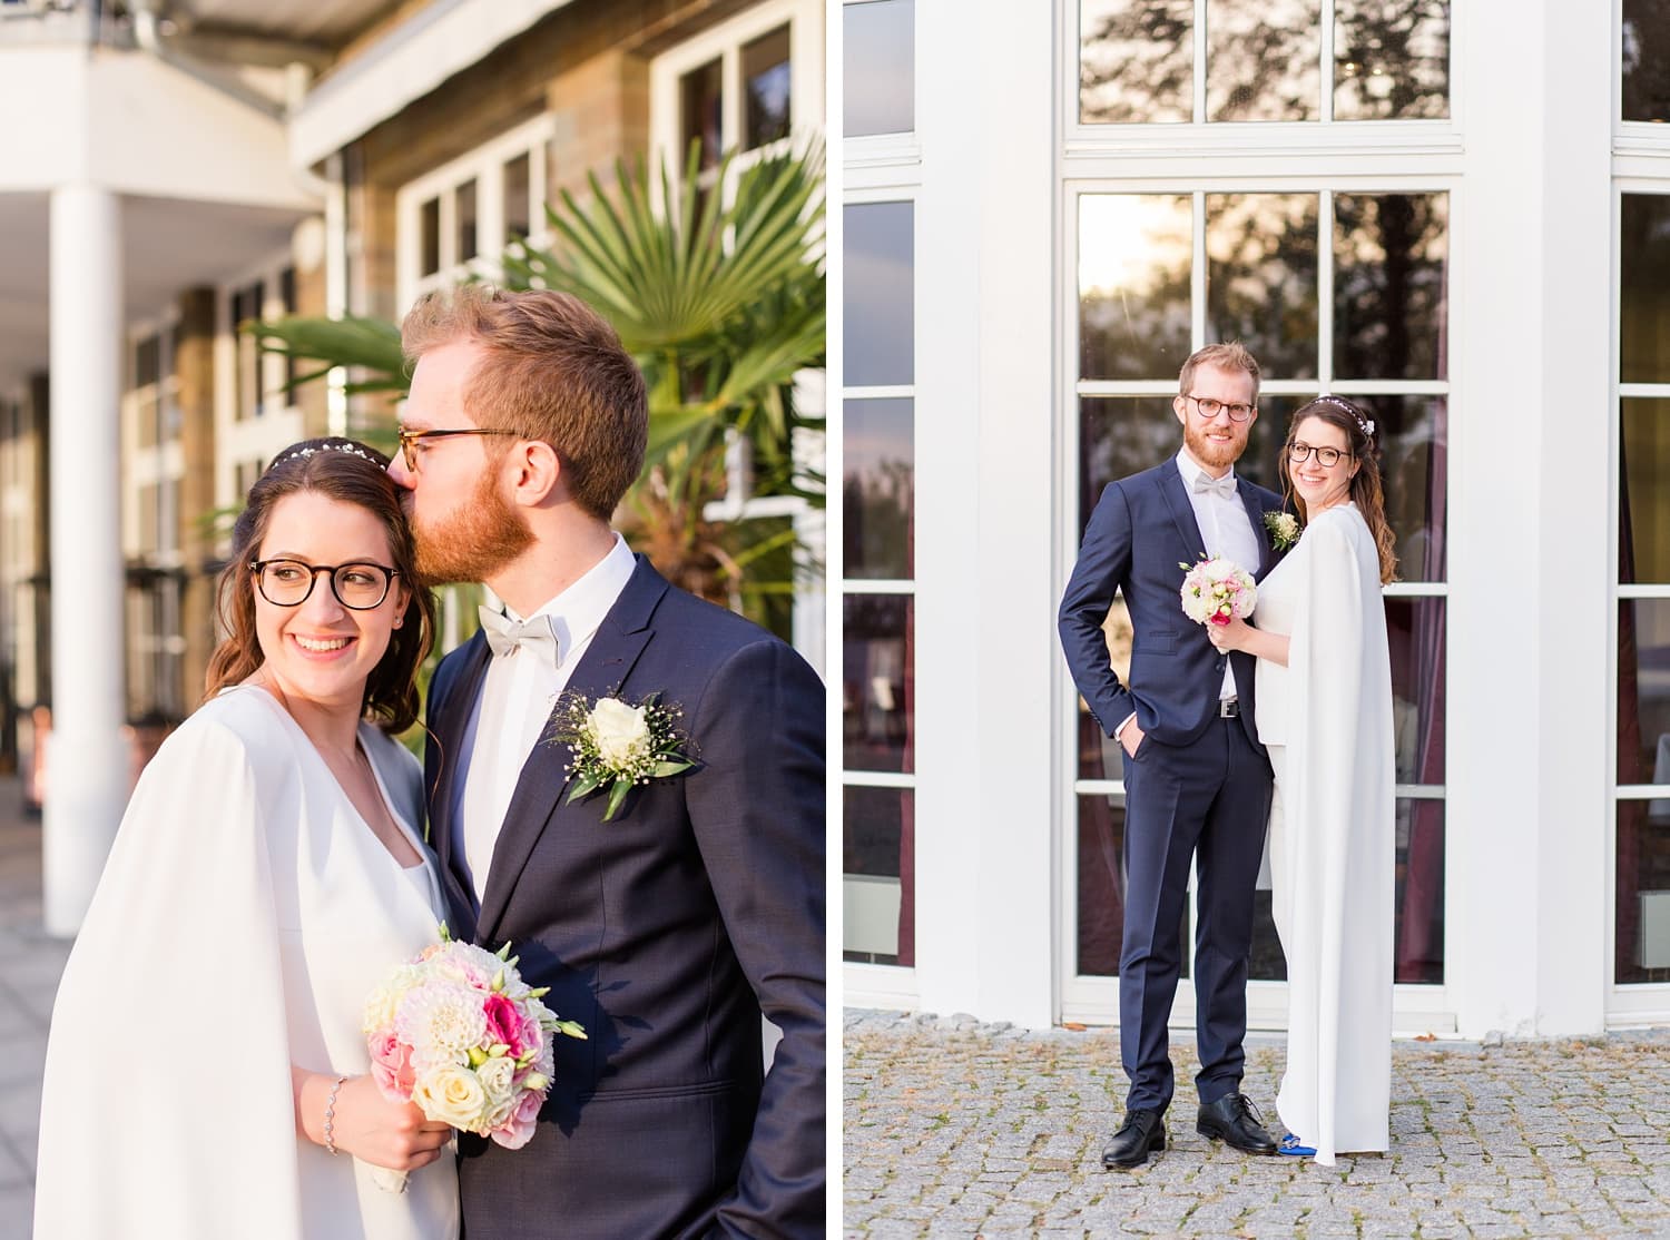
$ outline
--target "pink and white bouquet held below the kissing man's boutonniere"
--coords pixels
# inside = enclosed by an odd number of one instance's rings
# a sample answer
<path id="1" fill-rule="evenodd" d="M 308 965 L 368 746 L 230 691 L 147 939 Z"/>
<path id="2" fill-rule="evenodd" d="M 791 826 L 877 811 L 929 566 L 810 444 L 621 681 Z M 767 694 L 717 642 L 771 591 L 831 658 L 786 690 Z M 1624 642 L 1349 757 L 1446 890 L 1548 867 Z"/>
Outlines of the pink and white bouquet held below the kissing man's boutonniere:
<path id="1" fill-rule="evenodd" d="M 439 943 L 366 1000 L 371 1075 L 386 1098 L 519 1150 L 551 1090 L 553 1035 L 586 1036 L 539 1001 L 548 990 L 521 980 L 509 943 L 486 951 L 443 925 Z M 389 1175 L 399 1178 L 384 1187 L 404 1190 L 406 1177 Z"/>

